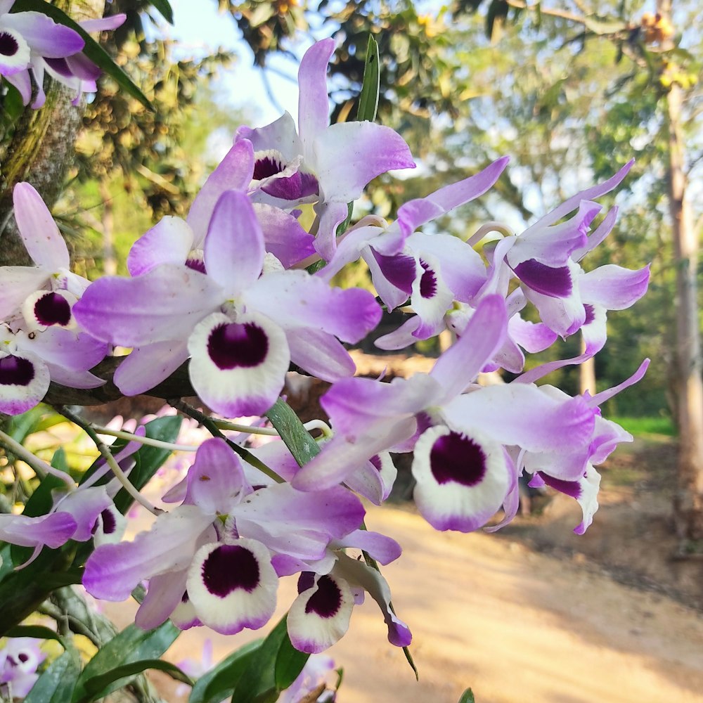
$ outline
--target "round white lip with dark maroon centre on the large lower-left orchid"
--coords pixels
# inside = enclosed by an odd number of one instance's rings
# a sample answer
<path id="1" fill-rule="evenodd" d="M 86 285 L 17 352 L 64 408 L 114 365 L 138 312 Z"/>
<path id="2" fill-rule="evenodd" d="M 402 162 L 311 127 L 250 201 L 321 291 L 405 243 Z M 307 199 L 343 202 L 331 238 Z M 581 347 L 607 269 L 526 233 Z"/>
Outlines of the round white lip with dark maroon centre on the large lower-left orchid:
<path id="1" fill-rule="evenodd" d="M 253 539 L 202 546 L 187 586 L 200 621 L 224 635 L 264 626 L 276 608 L 278 576 L 269 550 Z"/>

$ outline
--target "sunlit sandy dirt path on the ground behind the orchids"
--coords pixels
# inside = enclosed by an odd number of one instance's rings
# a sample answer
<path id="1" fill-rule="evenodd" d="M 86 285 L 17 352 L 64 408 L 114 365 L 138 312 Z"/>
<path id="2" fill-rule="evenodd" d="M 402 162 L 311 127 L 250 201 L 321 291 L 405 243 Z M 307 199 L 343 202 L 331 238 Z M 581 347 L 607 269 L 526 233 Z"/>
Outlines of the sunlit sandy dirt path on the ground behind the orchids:
<path id="1" fill-rule="evenodd" d="M 615 583 L 583 557 L 536 553 L 510 536 L 439 534 L 413 512 L 373 509 L 366 521 L 404 546 L 383 569 L 413 630 L 415 681 L 386 640 L 373 602 L 357 607 L 329 654 L 344 667 L 342 703 L 703 703 L 703 617 L 664 595 Z M 293 584 L 279 591 L 282 613 Z M 127 624 L 131 605 L 108 614 Z M 183 633 L 167 653 L 221 659 L 260 633 Z M 154 676 L 169 701 L 172 682 Z"/>

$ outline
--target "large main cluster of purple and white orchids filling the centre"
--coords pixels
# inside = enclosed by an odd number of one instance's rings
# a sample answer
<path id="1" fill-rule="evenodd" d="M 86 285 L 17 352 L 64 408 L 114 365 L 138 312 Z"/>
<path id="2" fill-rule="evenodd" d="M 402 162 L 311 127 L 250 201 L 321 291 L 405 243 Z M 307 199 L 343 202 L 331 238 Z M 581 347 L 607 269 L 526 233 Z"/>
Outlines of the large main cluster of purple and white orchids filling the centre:
<path id="1" fill-rule="evenodd" d="M 279 579 L 295 576 L 287 622 L 299 650 L 335 643 L 366 593 L 378 602 L 389 641 L 408 645 L 411 633 L 373 567 L 373 560 L 392 562 L 401 548 L 366 530 L 359 498 L 380 504 L 389 495 L 389 452 L 414 453 L 415 502 L 437 529 L 479 529 L 502 509 L 501 522 L 489 528 L 498 529 L 515 516 L 518 480 L 528 474 L 531 485 L 578 501 L 583 518 L 575 531 L 583 533 L 598 508 L 595 467 L 632 439 L 599 407 L 640 380 L 647 361 L 595 396 L 536 385 L 602 349 L 607 311 L 645 293 L 648 268 L 584 271 L 580 263 L 617 215 L 611 209 L 591 231 L 601 209 L 595 199 L 616 188 L 630 165 L 519 235 L 487 224 L 465 242 L 425 228 L 489 191 L 508 163 L 503 158 L 406 202 L 391 223 L 365 217 L 337 236 L 347 204 L 371 179 L 414 163 L 387 127 L 328 124 L 333 49 L 333 41 L 321 41 L 302 60 L 297 127 L 286 113 L 260 129 L 240 128 L 187 219 L 166 217 L 136 241 L 129 277 L 89 284 L 70 273 L 39 196 L 27 184 L 15 188 L 15 217 L 37 266 L 0 269 L 0 411 L 27 410 L 50 381 L 101 383 L 90 369 L 112 345 L 131 347 L 114 377 L 122 393 L 146 392 L 187 361 L 195 392 L 226 418 L 269 411 L 291 363 L 331 383 L 322 404 L 332 436 L 309 463 L 299 466 L 283 442 L 250 450 L 254 460 L 243 463 L 224 439 L 207 439 L 164 496 L 176 507 L 134 541 L 101 540 L 86 562 L 84 586 L 96 598 L 123 600 L 146 581 L 136 616 L 145 628 L 166 619 L 227 634 L 260 628 L 276 607 Z M 310 231 L 300 224 L 304 207 L 315 214 Z M 503 237 L 482 256 L 474 245 L 491 228 Z M 377 295 L 333 285 L 358 259 Z M 430 373 L 392 382 L 354 376 L 344 344 L 373 333 L 381 304 L 411 309 L 397 330 L 376 340 L 382 349 L 445 329 L 456 334 Z M 522 317 L 528 306 L 538 322 Z M 583 354 L 523 373 L 526 352 L 579 331 Z M 479 385 L 482 371 L 496 369 L 517 378 Z M 86 482 L 57 503 L 52 519 L 65 515 L 76 525 L 72 532 L 63 525 L 64 534 L 119 534 L 114 491 L 97 490 Z M 368 561 L 349 550 L 362 550 Z"/>

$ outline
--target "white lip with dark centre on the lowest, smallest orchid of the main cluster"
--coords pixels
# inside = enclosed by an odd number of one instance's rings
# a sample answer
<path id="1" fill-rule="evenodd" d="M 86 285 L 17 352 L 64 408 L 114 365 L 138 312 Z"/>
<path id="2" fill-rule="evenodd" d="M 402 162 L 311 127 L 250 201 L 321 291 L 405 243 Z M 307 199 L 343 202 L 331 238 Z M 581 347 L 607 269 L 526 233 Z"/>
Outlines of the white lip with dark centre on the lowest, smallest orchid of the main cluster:
<path id="1" fill-rule="evenodd" d="M 333 574 L 315 576 L 288 611 L 292 645 L 301 652 L 323 652 L 347 632 L 352 610 L 354 595 L 347 581 Z"/>

